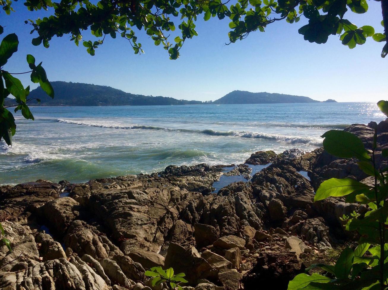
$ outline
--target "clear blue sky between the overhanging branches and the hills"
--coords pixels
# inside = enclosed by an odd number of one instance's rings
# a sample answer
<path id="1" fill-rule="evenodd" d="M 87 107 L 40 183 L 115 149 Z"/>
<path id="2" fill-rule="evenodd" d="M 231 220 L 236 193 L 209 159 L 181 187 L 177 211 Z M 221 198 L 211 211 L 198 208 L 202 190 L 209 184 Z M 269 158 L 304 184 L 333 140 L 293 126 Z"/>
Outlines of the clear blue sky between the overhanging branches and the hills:
<path id="1" fill-rule="evenodd" d="M 367 13 L 348 12 L 345 18 L 383 32 L 380 2 L 368 4 Z M 4 67 L 9 72 L 27 71 L 26 54 L 30 53 L 36 61 L 43 61 L 50 81 L 109 85 L 133 94 L 206 101 L 232 90 L 248 90 L 320 101 L 388 99 L 388 57 L 381 58 L 381 43 L 368 38 L 362 46 L 349 49 L 338 36 L 329 37 L 326 44 L 309 43 L 298 34 L 304 20 L 276 22 L 266 32 L 253 32 L 243 41 L 225 46 L 229 19 L 200 19 L 196 23 L 199 36 L 185 42 L 178 60 L 170 60 L 163 47 L 154 46 L 144 31 L 137 31 L 145 50 L 140 56 L 120 37 L 107 36 L 95 56 L 88 55 L 82 45 L 76 47 L 69 36 L 53 38 L 48 49 L 36 47 L 31 39 L 37 35 L 29 34 L 31 26 L 24 20 L 36 19 L 42 12 L 29 12 L 23 1 L 14 2 L 14 9 L 16 13 L 9 16 L 0 13 L 0 24 L 6 26 L 2 36 L 16 32 L 20 42 L 19 51 Z M 89 30 L 83 37 L 95 40 Z M 27 75 L 21 80 L 36 87 Z"/>

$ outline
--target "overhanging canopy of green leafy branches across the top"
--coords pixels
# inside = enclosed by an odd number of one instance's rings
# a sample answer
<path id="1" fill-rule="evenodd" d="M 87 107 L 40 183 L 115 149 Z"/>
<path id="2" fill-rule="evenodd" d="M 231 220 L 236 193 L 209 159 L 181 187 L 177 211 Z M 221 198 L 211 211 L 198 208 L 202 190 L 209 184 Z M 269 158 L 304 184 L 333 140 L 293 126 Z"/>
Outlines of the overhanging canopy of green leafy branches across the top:
<path id="1" fill-rule="evenodd" d="M 33 26 L 37 36 L 34 45 L 47 48 L 53 36 L 71 35 L 78 46 L 80 41 L 90 55 L 103 43 L 106 35 L 127 39 L 134 52 L 143 53 L 137 42 L 136 30 L 143 30 L 155 45 L 162 45 L 171 59 L 179 57 L 179 51 L 187 39 L 197 36 L 197 17 L 209 20 L 229 18 L 229 43 L 246 38 L 253 31 L 265 31 L 267 25 L 286 20 L 298 22 L 301 17 L 308 24 L 300 27 L 299 33 L 309 42 L 326 43 L 333 34 L 340 35 L 342 44 L 354 48 L 364 44 L 368 37 L 386 42 L 381 56 L 388 51 L 388 7 L 382 5 L 385 33 L 375 33 L 371 26 L 357 26 L 345 18 L 345 14 L 367 12 L 366 0 L 25 0 L 28 10 L 45 9 L 52 12 L 50 17 L 26 20 Z M 377 1 L 377 0 L 376 0 Z M 12 11 L 12 0 L 0 0 L 7 14 Z M 387 10 L 387 11 L 385 11 Z M 90 29 L 96 41 L 84 40 L 83 31 Z M 175 32 L 177 30 L 177 32 Z M 228 44 L 229 44 L 228 43 Z"/>

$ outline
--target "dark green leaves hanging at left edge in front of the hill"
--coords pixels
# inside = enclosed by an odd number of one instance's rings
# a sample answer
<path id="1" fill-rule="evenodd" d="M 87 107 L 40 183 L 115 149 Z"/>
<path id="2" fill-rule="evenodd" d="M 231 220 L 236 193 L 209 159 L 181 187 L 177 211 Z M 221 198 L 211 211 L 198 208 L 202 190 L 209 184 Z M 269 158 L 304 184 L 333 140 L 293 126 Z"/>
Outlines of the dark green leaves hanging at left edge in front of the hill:
<path id="1" fill-rule="evenodd" d="M 8 145 L 12 145 L 12 136 L 15 135 L 16 124 L 12 113 L 4 107 L 5 98 L 9 95 L 14 96 L 17 102 L 14 109 L 15 113 L 21 110 L 24 118 L 34 119 L 34 116 L 27 105 L 28 102 L 32 100 L 28 99 L 29 86 L 24 88 L 21 81 L 13 76 L 19 73 L 10 73 L 3 70 L 3 66 L 7 64 L 9 58 L 16 53 L 18 46 L 19 39 L 14 33 L 5 36 L 0 44 L 0 141 L 3 138 Z M 31 73 L 31 81 L 33 83 L 39 83 L 42 89 L 53 98 L 54 90 L 47 79 L 42 63 L 35 65 L 35 58 L 32 55 L 27 55 L 27 63 L 31 71 L 25 73 Z M 37 101 L 39 102 L 38 99 Z"/>

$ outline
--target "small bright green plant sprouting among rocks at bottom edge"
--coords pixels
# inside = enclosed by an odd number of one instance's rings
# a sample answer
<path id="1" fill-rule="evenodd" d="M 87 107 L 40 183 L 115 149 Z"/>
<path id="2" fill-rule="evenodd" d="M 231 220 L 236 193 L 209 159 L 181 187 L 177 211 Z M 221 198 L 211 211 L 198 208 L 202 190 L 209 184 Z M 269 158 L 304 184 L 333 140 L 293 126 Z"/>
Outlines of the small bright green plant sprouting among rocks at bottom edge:
<path id="1" fill-rule="evenodd" d="M 152 286 L 156 286 L 165 282 L 167 287 L 169 287 L 170 289 L 182 290 L 182 287 L 178 283 L 188 282 L 185 278 L 183 278 L 186 276 L 185 273 L 179 273 L 174 275 L 173 268 L 163 270 L 162 267 L 153 267 L 151 268 L 151 271 L 145 271 L 144 275 L 153 277 L 151 281 Z"/>

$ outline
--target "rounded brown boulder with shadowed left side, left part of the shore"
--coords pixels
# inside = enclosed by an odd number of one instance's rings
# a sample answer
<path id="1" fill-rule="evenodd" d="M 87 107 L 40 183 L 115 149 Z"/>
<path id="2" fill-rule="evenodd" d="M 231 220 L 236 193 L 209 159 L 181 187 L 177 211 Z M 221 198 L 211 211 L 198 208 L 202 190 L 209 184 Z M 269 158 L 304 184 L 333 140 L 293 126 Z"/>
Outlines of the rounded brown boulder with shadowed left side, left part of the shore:
<path id="1" fill-rule="evenodd" d="M 80 204 L 70 197 L 52 200 L 42 206 L 42 215 L 53 232 L 62 235 L 80 215 Z"/>

